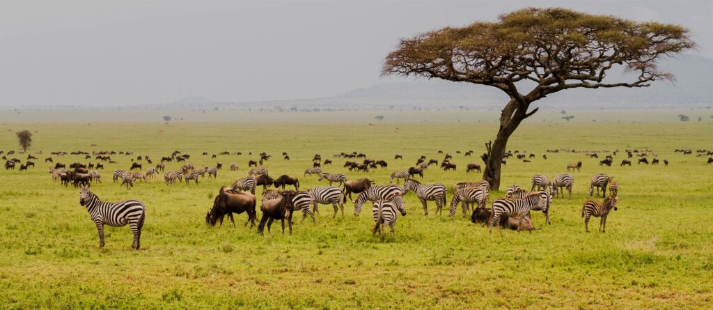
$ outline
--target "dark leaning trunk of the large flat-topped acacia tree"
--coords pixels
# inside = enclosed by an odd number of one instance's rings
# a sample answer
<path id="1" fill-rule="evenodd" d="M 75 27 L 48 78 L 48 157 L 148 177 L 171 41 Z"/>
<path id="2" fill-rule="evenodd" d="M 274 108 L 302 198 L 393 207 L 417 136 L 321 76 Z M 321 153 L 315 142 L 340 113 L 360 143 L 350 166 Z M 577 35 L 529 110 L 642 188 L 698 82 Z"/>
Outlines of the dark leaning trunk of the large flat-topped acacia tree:
<path id="1" fill-rule="evenodd" d="M 485 170 L 483 170 L 483 180 L 490 183 L 491 190 L 500 190 L 500 173 L 503 165 L 503 155 L 505 154 L 508 145 L 508 139 L 513 134 L 515 128 L 518 128 L 520 122 L 525 119 L 525 108 L 519 108 L 515 100 L 511 100 L 503 109 L 501 115 L 500 130 L 496 136 L 495 142 L 488 154 Z"/>

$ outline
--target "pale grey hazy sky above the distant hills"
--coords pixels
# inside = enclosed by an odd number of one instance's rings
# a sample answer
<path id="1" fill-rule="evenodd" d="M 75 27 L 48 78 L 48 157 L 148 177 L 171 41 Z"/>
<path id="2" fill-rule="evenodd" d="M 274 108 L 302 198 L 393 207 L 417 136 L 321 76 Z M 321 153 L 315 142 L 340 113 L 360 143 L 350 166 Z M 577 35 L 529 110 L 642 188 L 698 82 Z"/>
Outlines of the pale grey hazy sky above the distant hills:
<path id="1" fill-rule="evenodd" d="M 713 1 L 0 0 L 0 105 L 337 95 L 400 81 L 399 38 L 523 6 L 682 24 L 713 58 Z"/>

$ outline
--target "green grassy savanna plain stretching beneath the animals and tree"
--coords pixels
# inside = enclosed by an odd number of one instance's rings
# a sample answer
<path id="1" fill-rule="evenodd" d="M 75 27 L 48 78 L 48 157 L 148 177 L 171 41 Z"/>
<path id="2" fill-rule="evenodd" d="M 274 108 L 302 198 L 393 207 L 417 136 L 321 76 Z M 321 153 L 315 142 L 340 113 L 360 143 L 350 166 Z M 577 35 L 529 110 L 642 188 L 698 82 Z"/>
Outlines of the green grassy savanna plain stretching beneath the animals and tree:
<path id="1" fill-rule="evenodd" d="M 363 123 L 339 124 L 1 123 L 0 150 L 17 150 L 14 132 L 28 129 L 34 133 L 28 153 L 42 150 L 43 155 L 29 171 L 0 171 L 0 307 L 709 308 L 713 165 L 673 151 L 712 149 L 713 123 L 617 123 L 625 113 L 610 113 L 612 123 L 607 124 L 525 122 L 511 138 L 508 149 L 528 150 L 537 157 L 531 163 L 508 160 L 501 190 L 509 184 L 529 188 L 535 173 L 553 177 L 565 172 L 568 162 L 584 162 L 582 171 L 574 172 L 573 199 L 553 202 L 551 225 L 535 213 L 535 226 L 541 229 L 531 234 L 488 234 L 461 217 L 460 210 L 454 218 L 435 215 L 433 202 L 425 217 L 409 193 L 408 215 L 399 217 L 395 237 L 384 243 L 371 236 L 370 212 L 355 218 L 351 202 L 344 217 L 332 219 L 332 207 L 322 206 L 317 224 L 300 223 L 302 215 L 296 213 L 292 235 L 280 234 L 277 223 L 265 237 L 243 227 L 244 214 L 236 217 L 236 227 L 230 222 L 208 227 L 205 212 L 219 187 L 245 176 L 247 160 L 257 159 L 261 151 L 273 155 L 265 163 L 270 175 L 297 175 L 307 189 L 326 185 L 316 177 L 302 177 L 314 153 L 333 159 L 334 153 L 356 150 L 386 160 L 388 168 L 368 173 L 348 172 L 343 159 L 324 167 L 350 179 L 369 177 L 384 184 L 391 172 L 414 165 L 420 155 L 440 162 L 443 155 L 436 151 L 443 150 L 453 155 L 458 170 L 430 167 L 424 182 L 447 185 L 450 202 L 454 183 L 480 179 L 479 173 L 466 173 L 465 165 L 481 162 L 477 155 L 496 133 L 496 123 L 463 119 L 369 125 L 371 114 L 359 116 Z M 424 115 L 438 118 L 438 113 Z M 620 167 L 623 153 L 615 156 L 612 167 L 600 167 L 597 159 L 579 153 L 548 153 L 543 160 L 545 150 L 553 148 L 650 148 L 670 165 Z M 111 172 L 128 169 L 130 157 L 113 156 L 118 163 L 100 170 L 103 184 L 91 189 L 103 200 L 142 200 L 147 218 L 140 251 L 130 249 L 128 227 L 107 227 L 107 245 L 100 250 L 96 227 L 78 203 L 78 190 L 53 183 L 48 174 L 42 159 L 53 150 L 130 150 L 155 162 L 181 150 L 192 155 L 190 162 L 197 167 L 212 167 L 220 160 L 224 169 L 217 180 L 204 177 L 198 185 L 166 186 L 155 180 L 125 190 L 111 182 Z M 219 155 L 217 160 L 201 155 L 223 150 L 243 155 Z M 456 150 L 474 150 L 475 155 L 456 155 Z M 292 160 L 282 160 L 283 151 Z M 394 160 L 396 153 L 404 160 Z M 88 161 L 83 156 L 54 158 Z M 240 170 L 227 169 L 231 162 Z M 168 169 L 179 166 L 171 162 Z M 620 204 L 605 234 L 597 232 L 597 218 L 587 234 L 581 206 L 590 198 L 589 180 L 597 172 L 620 182 Z M 503 195 L 493 192 L 491 201 Z"/>

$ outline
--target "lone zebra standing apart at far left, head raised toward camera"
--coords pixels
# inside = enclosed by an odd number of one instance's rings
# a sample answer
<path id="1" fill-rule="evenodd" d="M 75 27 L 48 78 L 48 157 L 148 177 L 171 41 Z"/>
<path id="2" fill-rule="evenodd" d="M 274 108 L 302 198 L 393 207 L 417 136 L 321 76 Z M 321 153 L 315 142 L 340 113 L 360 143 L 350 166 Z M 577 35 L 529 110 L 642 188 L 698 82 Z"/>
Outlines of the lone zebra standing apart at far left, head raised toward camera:
<path id="1" fill-rule="evenodd" d="M 138 200 L 103 202 L 99 197 L 83 186 L 79 190 L 79 204 L 86 207 L 99 232 L 99 248 L 104 247 L 104 225 L 122 227 L 129 224 L 134 239 L 132 249 L 141 247 L 141 228 L 146 218 L 146 206 Z"/>

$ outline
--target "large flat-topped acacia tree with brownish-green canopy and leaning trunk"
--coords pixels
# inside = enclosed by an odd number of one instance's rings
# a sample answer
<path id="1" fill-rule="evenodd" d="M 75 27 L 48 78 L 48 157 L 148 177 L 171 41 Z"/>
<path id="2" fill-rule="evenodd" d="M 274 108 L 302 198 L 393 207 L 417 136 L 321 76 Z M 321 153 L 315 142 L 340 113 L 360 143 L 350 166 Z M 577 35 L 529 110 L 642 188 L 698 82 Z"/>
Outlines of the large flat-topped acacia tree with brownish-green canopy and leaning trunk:
<path id="1" fill-rule="evenodd" d="M 657 61 L 693 47 L 689 30 L 678 25 L 529 8 L 501 15 L 496 22 L 401 39 L 386 56 L 382 74 L 441 78 L 505 92 L 510 100 L 484 156 L 483 180 L 498 190 L 508 138 L 537 112 L 536 107 L 530 109 L 533 102 L 570 88 L 638 88 L 672 79 L 658 70 Z M 636 77 L 608 81 L 607 71 L 615 66 Z"/>

